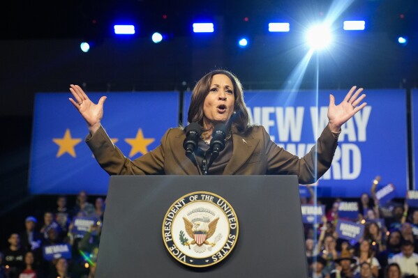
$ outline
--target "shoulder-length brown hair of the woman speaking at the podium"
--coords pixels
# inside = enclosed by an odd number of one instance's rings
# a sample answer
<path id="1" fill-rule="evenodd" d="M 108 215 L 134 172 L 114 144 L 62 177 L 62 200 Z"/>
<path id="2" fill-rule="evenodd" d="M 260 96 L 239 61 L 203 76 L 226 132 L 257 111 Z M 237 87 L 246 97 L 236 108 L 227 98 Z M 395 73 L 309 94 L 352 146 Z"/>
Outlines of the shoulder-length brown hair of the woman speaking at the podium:
<path id="1" fill-rule="evenodd" d="M 226 75 L 234 86 L 234 114 L 230 118 L 230 124 L 239 132 L 246 132 L 249 125 L 247 107 L 244 103 L 244 92 L 239 79 L 227 70 L 212 70 L 204 75 L 193 88 L 190 107 L 188 108 L 187 121 L 189 123 L 198 123 L 203 126 L 203 103 L 210 91 L 212 77 L 214 75 Z"/>

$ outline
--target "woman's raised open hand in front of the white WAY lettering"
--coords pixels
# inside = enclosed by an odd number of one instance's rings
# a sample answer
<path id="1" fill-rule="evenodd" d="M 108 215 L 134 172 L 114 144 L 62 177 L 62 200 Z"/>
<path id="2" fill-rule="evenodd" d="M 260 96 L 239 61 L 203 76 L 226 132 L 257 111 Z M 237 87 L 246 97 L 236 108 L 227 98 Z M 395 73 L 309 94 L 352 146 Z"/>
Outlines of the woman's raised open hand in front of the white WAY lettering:
<path id="1" fill-rule="evenodd" d="M 344 100 L 339 105 L 335 105 L 334 95 L 329 95 L 328 120 L 329 128 L 331 128 L 332 132 L 339 132 L 341 125 L 350 120 L 354 114 L 367 105 L 366 102 L 360 104 L 366 98 L 365 94 L 360 95 L 363 88 L 359 88 L 354 93 L 356 88 L 357 86 L 352 86 L 351 90 L 345 95 Z"/>

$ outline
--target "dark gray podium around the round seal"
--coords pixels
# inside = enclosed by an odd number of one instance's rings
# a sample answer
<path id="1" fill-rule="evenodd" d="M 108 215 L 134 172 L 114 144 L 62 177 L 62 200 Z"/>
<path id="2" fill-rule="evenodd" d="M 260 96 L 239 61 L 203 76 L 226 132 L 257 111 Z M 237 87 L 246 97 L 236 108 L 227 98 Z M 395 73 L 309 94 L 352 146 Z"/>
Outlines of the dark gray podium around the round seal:
<path id="1" fill-rule="evenodd" d="M 216 265 L 192 268 L 165 249 L 163 219 L 191 192 L 222 196 L 239 236 Z M 112 176 L 96 277 L 307 277 L 296 176 Z"/>

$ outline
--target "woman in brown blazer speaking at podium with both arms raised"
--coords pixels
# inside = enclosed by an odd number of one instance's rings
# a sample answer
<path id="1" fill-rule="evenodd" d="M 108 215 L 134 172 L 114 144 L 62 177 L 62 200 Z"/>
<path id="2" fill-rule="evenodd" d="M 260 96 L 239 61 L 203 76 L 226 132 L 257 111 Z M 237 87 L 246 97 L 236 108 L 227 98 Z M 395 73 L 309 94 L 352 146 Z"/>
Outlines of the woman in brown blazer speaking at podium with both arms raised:
<path id="1" fill-rule="evenodd" d="M 95 104 L 80 86 L 70 85 L 70 102 L 87 122 L 89 148 L 110 175 L 293 174 L 306 184 L 314 183 L 331 166 L 341 125 L 366 106 L 362 91 L 353 86 L 338 105 L 329 95 L 328 125 L 301 159 L 271 141 L 262 126 L 249 124 L 241 82 L 227 70 L 211 71 L 195 85 L 188 109 L 193 128 L 167 130 L 160 146 L 133 161 L 114 146 L 101 125 L 105 96 Z M 213 142 L 215 134 L 220 138 Z"/>

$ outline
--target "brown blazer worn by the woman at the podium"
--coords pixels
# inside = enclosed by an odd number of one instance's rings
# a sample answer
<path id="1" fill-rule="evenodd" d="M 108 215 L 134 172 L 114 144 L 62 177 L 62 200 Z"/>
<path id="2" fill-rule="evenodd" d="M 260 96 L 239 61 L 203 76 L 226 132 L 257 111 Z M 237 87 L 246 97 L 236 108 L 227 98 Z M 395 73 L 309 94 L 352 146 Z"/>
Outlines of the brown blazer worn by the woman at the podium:
<path id="1" fill-rule="evenodd" d="M 100 127 L 86 139 L 96 160 L 110 175 L 198 175 L 197 166 L 186 157 L 184 130 L 170 128 L 161 144 L 149 153 L 130 160 L 114 146 Z M 315 178 L 315 146 L 300 158 L 271 141 L 262 126 L 253 126 L 246 135 L 232 129 L 232 158 L 224 175 L 297 175 L 299 183 L 314 183 L 331 167 L 338 136 L 325 128 L 317 141 L 318 177 Z"/>

